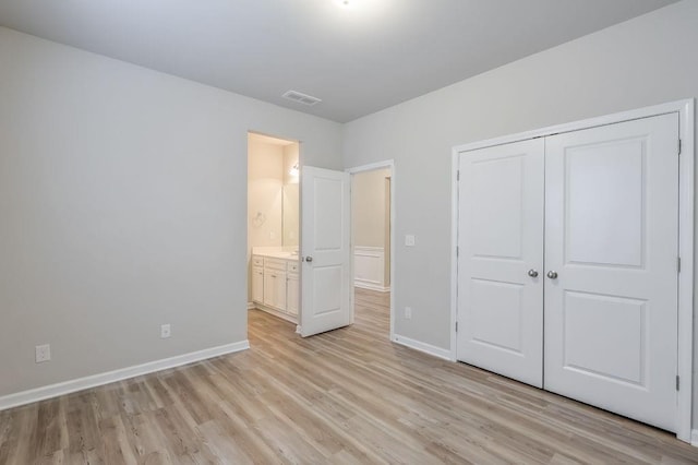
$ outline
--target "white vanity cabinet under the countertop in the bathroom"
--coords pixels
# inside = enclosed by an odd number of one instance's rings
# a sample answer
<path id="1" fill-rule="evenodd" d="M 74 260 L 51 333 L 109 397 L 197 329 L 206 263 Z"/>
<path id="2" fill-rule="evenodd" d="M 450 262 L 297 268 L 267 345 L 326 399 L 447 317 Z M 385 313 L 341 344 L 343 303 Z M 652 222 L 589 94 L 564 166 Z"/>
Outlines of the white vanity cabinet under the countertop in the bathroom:
<path id="1" fill-rule="evenodd" d="M 252 301 L 260 310 L 296 322 L 299 306 L 298 260 L 252 255 Z"/>

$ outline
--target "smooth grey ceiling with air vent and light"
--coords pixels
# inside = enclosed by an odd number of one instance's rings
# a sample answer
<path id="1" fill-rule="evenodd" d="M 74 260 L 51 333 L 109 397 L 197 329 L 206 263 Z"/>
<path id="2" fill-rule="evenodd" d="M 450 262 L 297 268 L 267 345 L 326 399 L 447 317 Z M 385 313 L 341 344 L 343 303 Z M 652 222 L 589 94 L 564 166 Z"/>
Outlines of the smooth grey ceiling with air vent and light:
<path id="1" fill-rule="evenodd" d="M 349 1 L 2 0 L 0 25 L 346 122 L 675 0 Z"/>

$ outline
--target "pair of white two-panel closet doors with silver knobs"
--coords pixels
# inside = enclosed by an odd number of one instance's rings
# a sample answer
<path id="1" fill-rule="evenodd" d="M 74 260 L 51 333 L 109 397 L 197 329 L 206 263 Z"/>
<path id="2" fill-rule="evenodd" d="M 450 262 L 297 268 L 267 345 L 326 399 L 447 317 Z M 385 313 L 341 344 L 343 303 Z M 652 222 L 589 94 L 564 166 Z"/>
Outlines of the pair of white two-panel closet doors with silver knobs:
<path id="1" fill-rule="evenodd" d="M 459 156 L 458 359 L 676 430 L 678 116 Z"/>

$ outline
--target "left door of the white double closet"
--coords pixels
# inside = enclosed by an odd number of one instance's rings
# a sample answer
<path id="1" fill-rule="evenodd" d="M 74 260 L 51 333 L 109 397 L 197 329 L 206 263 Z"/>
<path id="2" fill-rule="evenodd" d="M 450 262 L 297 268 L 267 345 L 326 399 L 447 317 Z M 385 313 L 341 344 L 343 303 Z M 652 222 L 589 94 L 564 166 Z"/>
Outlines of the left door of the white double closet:
<path id="1" fill-rule="evenodd" d="M 458 184 L 458 359 L 538 388 L 543 150 L 537 139 L 465 152 Z"/>

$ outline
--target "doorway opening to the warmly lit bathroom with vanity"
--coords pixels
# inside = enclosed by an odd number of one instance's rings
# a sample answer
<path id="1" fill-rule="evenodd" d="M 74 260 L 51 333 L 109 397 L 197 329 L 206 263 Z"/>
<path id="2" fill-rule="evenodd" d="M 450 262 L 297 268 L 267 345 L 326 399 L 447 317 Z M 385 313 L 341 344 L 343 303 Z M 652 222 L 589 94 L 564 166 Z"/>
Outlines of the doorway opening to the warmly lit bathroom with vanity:
<path id="1" fill-rule="evenodd" d="M 248 309 L 298 323 L 300 144 L 248 133 Z"/>

